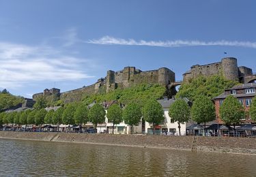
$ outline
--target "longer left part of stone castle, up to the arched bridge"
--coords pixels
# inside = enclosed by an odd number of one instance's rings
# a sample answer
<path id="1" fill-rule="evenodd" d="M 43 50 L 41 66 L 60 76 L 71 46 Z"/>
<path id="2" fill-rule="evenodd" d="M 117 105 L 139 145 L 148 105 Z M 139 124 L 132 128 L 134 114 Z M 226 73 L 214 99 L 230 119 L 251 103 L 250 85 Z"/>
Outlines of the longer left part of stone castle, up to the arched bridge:
<path id="1" fill-rule="evenodd" d="M 171 83 L 175 82 L 175 73 L 166 67 L 152 71 L 141 71 L 135 67 L 124 67 L 121 71 L 107 71 L 105 78 L 100 78 L 95 84 L 83 86 L 72 91 L 61 93 L 57 88 L 45 89 L 43 93 L 33 95 L 33 100 L 37 97 L 45 96 L 49 101 L 63 100 L 64 103 L 80 101 L 83 95 L 94 93 L 109 93 L 117 88 L 128 88 L 136 84 L 160 84 L 167 88 L 169 97 L 175 95 L 175 88 Z"/>

